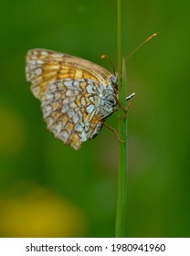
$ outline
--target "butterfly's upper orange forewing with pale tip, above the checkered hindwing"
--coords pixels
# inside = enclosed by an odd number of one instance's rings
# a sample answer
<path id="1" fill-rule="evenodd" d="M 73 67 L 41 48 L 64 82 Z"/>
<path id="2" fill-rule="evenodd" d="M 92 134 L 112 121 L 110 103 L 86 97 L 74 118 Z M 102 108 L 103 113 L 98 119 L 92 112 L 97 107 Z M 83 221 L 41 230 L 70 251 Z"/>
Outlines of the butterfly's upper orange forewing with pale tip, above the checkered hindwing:
<path id="1" fill-rule="evenodd" d="M 111 73 L 88 60 L 51 50 L 32 49 L 26 55 L 26 80 L 32 82 L 31 90 L 40 99 L 52 80 L 92 79 L 100 83 Z"/>

